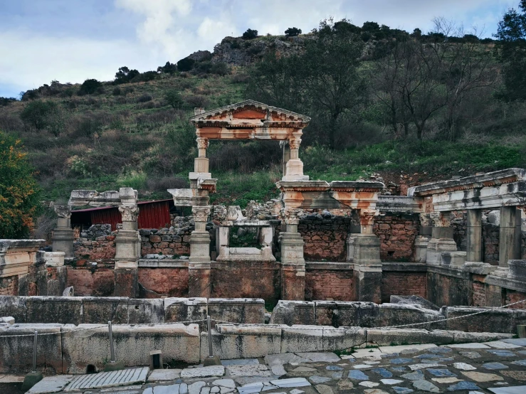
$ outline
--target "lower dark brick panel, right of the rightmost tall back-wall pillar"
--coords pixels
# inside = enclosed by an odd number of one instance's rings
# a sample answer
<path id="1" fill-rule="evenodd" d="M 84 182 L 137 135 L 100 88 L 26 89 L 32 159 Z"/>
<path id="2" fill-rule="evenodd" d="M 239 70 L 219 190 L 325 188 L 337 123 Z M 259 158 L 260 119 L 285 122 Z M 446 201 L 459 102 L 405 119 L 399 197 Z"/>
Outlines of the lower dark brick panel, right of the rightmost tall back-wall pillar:
<path id="1" fill-rule="evenodd" d="M 389 302 L 391 295 L 417 295 L 427 297 L 426 272 L 382 272 L 382 302 Z"/>

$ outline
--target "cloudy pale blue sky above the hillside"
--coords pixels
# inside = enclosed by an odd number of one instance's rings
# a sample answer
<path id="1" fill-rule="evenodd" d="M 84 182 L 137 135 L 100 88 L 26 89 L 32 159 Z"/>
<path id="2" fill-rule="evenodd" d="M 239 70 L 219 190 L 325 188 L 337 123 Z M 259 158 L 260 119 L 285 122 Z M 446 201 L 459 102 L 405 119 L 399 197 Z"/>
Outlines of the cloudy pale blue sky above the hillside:
<path id="1" fill-rule="evenodd" d="M 196 50 L 213 50 L 247 28 L 304 32 L 322 18 L 361 26 L 431 29 L 435 16 L 491 36 L 519 0 L 0 0 L 0 96 L 49 83 L 112 80 L 123 65 L 156 70 Z"/>

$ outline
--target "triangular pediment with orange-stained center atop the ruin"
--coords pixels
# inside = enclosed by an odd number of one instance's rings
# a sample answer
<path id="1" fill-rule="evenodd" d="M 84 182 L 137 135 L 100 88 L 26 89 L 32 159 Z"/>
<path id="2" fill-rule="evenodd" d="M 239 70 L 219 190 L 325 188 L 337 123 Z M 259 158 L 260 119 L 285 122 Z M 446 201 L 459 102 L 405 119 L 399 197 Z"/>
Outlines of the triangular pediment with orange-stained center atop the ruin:
<path id="1" fill-rule="evenodd" d="M 191 117 L 190 121 L 194 124 L 201 122 L 236 122 L 245 119 L 248 121 L 261 122 L 302 122 L 307 124 L 310 117 L 300 115 L 296 112 L 283 110 L 254 100 L 245 100 L 226 107 L 216 108 Z"/>

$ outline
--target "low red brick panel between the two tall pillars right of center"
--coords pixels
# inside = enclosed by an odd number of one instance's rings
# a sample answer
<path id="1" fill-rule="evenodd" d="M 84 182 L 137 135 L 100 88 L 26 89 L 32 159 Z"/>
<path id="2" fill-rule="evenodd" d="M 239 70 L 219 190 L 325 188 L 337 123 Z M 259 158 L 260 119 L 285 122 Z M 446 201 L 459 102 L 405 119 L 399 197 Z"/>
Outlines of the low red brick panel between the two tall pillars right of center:
<path id="1" fill-rule="evenodd" d="M 354 300 L 353 272 L 308 267 L 305 270 L 305 300 Z"/>

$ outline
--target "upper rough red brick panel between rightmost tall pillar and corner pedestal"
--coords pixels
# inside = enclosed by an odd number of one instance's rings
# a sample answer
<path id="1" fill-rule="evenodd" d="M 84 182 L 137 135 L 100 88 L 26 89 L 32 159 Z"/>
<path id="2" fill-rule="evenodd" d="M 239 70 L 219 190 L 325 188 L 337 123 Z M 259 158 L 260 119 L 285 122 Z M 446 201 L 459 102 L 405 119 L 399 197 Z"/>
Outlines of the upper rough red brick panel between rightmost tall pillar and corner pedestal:
<path id="1" fill-rule="evenodd" d="M 419 215 L 377 216 L 374 234 L 381 241 L 382 261 L 414 261 L 414 240 L 419 235 L 419 225 Z"/>

